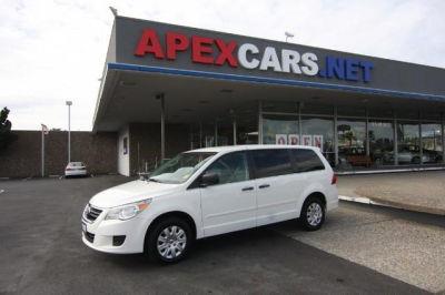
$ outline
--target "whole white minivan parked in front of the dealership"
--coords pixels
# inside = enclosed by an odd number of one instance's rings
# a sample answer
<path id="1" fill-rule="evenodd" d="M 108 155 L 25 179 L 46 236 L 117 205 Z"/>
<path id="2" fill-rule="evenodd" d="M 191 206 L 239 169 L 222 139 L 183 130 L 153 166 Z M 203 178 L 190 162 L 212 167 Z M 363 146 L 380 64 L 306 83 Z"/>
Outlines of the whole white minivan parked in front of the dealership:
<path id="1" fill-rule="evenodd" d="M 82 241 L 107 253 L 176 262 L 195 240 L 298 218 L 318 230 L 337 207 L 337 177 L 318 149 L 207 148 L 177 155 L 147 180 L 95 195 Z"/>

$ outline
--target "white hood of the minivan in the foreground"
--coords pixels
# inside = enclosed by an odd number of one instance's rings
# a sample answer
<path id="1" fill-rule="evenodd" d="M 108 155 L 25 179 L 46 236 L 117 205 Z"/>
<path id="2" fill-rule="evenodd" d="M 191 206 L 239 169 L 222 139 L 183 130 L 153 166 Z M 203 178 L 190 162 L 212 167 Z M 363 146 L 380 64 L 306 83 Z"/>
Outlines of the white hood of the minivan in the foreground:
<path id="1" fill-rule="evenodd" d="M 168 194 L 178 186 L 179 184 L 131 181 L 96 194 L 91 197 L 90 204 L 101 208 L 116 207 Z"/>

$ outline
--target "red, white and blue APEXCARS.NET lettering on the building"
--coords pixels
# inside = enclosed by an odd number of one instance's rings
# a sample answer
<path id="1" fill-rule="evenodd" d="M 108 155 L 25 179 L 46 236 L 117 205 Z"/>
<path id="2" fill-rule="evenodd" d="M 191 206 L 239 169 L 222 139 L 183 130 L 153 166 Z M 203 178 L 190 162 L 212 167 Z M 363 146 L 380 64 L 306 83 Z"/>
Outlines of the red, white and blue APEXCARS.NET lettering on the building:
<path id="1" fill-rule="evenodd" d="M 370 81 L 370 72 L 374 68 L 373 63 L 366 60 L 333 55 L 317 57 L 313 52 L 298 52 L 291 49 L 277 50 L 274 47 L 260 50 L 254 43 L 238 44 L 236 41 L 219 38 L 187 37 L 171 31 L 161 38 L 165 38 L 165 47 L 162 47 L 156 30 L 144 30 L 135 55 L 140 58 L 151 55 L 160 60 L 175 61 L 178 54 L 190 50 L 190 59 L 195 63 L 363 82 Z M 323 69 L 319 65 L 320 58 L 325 60 Z"/>

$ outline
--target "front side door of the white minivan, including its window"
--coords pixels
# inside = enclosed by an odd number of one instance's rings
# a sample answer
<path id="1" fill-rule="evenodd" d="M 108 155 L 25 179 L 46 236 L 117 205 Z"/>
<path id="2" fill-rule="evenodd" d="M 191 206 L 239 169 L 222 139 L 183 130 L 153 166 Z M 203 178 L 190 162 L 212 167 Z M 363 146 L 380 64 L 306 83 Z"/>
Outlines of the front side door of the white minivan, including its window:
<path id="1" fill-rule="evenodd" d="M 256 225 L 255 181 L 250 180 L 245 152 L 222 155 L 205 173 L 216 173 L 219 183 L 201 187 L 204 235 L 217 235 Z"/>

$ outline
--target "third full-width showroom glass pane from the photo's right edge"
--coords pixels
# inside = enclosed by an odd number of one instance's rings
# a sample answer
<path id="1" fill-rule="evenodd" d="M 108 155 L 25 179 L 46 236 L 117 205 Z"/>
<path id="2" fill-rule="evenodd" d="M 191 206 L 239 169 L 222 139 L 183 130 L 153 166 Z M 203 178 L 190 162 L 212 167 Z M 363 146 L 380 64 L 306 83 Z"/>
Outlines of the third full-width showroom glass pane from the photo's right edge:
<path id="1" fill-rule="evenodd" d="M 368 123 L 369 155 L 375 166 L 394 165 L 394 128 L 390 121 Z"/>

